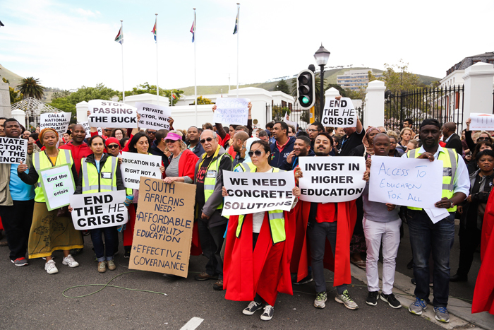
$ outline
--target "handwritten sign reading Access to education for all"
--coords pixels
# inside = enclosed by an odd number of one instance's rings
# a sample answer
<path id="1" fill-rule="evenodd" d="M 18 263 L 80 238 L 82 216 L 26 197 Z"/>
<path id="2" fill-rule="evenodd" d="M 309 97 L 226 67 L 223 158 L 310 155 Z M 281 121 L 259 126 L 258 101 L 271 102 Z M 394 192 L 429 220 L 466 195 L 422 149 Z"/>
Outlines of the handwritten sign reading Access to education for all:
<path id="1" fill-rule="evenodd" d="M 370 166 L 369 200 L 435 208 L 434 204 L 440 201 L 442 194 L 442 171 L 442 160 L 431 162 L 374 155 Z"/>

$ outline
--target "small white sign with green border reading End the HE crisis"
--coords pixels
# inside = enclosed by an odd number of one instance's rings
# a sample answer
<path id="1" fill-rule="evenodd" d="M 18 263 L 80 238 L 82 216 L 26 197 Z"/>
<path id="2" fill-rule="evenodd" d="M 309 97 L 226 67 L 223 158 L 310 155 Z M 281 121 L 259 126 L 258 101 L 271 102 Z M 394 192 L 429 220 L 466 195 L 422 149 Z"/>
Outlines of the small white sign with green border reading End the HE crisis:
<path id="1" fill-rule="evenodd" d="M 71 165 L 64 164 L 41 170 L 41 187 L 48 211 L 52 211 L 70 203 L 70 197 L 76 191 L 72 177 Z"/>

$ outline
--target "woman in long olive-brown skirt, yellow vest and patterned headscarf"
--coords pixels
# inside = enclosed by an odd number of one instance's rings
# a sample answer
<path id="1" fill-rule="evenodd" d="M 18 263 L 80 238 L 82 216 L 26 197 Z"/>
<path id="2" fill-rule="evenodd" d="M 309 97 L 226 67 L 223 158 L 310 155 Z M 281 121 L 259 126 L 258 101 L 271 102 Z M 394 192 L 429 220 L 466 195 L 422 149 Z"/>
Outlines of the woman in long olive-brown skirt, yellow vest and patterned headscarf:
<path id="1" fill-rule="evenodd" d="M 72 224 L 68 216 L 59 216 L 59 209 L 48 211 L 43 189 L 41 187 L 40 171 L 49 167 L 68 164 L 71 166 L 74 181 L 77 180 L 76 166 L 73 163 L 71 151 L 59 150 L 56 143 L 59 134 L 54 129 L 43 129 L 40 133 L 40 141 L 46 150 L 32 155 L 33 165 L 29 173 L 25 173 L 28 166 L 20 164 L 17 168 L 18 175 L 26 184 L 35 184 L 35 211 L 32 215 L 32 226 L 29 234 L 28 254 L 29 258 L 46 258 L 44 269 L 49 274 L 58 273 L 52 253 L 56 250 L 64 251 L 62 264 L 69 267 L 79 266 L 69 251 L 83 248 L 83 237 Z"/>

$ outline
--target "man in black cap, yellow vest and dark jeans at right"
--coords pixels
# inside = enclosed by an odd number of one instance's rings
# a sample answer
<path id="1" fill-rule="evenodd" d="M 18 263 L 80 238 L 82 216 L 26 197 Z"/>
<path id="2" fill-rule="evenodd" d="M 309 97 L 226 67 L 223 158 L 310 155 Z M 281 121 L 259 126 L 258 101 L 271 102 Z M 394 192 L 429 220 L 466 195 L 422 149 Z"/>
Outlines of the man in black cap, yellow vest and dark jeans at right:
<path id="1" fill-rule="evenodd" d="M 454 149 L 439 145 L 441 125 L 437 119 L 425 119 L 420 125 L 423 146 L 405 153 L 405 158 L 442 160 L 442 199 L 436 208 L 446 208 L 449 216 L 433 223 L 422 208 L 408 210 L 411 249 L 414 254 L 416 300 L 409 306 L 412 314 L 422 314 L 429 302 L 429 256 L 434 259 L 434 312 L 439 322 L 450 322 L 447 298 L 450 292 L 450 249 L 454 239 L 454 212 L 469 194 L 470 181 L 466 165 Z"/>

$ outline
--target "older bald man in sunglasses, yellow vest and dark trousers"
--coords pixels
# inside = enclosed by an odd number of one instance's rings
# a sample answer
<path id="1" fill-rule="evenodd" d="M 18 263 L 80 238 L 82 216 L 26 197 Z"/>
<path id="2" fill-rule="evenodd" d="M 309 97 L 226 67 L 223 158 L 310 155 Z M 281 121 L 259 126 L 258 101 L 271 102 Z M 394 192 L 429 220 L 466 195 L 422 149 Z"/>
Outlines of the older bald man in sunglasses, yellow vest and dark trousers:
<path id="1" fill-rule="evenodd" d="M 222 216 L 223 171 L 231 171 L 233 161 L 224 148 L 219 146 L 215 131 L 203 131 L 203 134 L 200 134 L 200 143 L 205 153 L 195 164 L 195 217 L 198 218 L 200 247 L 209 261 L 206 271 L 196 275 L 195 280 L 217 278 L 213 288 L 223 290 L 223 260 L 220 252 L 228 223 L 228 219 Z"/>

